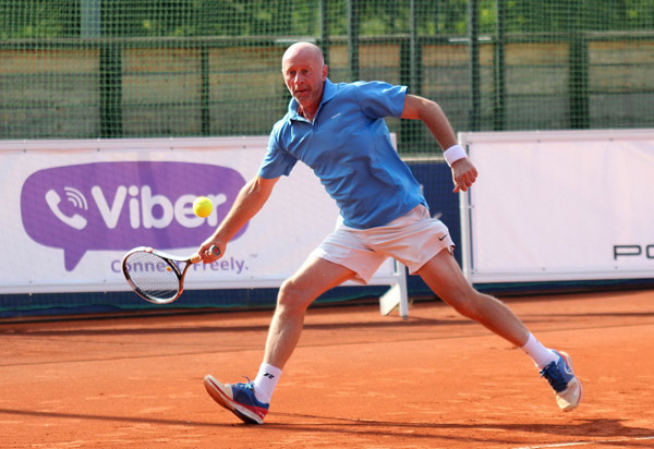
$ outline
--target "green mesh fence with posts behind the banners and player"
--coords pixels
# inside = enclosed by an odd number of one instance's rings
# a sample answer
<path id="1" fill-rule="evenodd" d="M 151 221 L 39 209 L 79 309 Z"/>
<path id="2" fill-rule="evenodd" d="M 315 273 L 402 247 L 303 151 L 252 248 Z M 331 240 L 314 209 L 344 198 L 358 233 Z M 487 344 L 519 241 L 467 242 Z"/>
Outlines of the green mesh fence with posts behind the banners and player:
<path id="1" fill-rule="evenodd" d="M 654 0 L 0 0 L 0 139 L 268 134 L 298 40 L 457 131 L 654 125 Z"/>

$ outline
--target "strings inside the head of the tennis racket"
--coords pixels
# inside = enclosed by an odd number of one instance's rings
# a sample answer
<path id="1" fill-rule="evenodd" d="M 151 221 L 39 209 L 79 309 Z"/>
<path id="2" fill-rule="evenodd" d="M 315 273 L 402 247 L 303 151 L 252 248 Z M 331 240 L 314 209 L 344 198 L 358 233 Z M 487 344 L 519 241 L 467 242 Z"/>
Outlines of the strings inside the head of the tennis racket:
<path id="1" fill-rule="evenodd" d="M 133 253 L 125 259 L 125 269 L 136 290 L 152 300 L 167 301 L 179 294 L 180 279 L 175 270 L 157 255 Z"/>

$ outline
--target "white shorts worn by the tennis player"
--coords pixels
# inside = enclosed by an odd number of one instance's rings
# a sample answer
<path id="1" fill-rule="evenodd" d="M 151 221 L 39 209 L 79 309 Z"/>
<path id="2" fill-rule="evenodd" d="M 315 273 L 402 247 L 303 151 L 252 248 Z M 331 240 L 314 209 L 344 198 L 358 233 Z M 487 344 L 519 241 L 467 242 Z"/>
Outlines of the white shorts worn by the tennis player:
<path id="1" fill-rule="evenodd" d="M 354 229 L 339 220 L 312 255 L 351 269 L 356 274 L 354 281 L 367 283 L 388 257 L 404 264 L 413 275 L 436 254 L 443 250 L 451 253 L 453 247 L 447 227 L 420 205 L 378 228 Z"/>

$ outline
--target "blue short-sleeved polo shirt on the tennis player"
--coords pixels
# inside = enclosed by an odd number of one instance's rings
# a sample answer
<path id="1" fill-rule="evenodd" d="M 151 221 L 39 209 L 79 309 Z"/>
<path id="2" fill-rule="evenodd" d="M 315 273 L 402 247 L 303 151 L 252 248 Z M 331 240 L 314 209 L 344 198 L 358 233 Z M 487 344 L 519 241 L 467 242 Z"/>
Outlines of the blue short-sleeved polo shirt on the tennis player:
<path id="1" fill-rule="evenodd" d="M 355 229 L 384 226 L 419 204 L 426 206 L 384 121 L 402 114 L 405 95 L 405 86 L 326 80 L 313 122 L 298 113 L 291 99 L 287 114 L 272 126 L 259 175 L 288 175 L 303 161 L 336 201 L 344 225 Z"/>

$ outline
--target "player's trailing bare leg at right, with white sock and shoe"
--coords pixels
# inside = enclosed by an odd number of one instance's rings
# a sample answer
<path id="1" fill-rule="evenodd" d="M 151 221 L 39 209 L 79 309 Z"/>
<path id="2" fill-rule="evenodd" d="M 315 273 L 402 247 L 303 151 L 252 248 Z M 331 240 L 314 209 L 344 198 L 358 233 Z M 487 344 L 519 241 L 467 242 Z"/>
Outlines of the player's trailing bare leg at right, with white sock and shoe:
<path id="1" fill-rule="evenodd" d="M 449 251 L 438 253 L 417 274 L 434 293 L 461 315 L 474 319 L 530 355 L 549 381 L 561 410 L 568 412 L 577 408 L 582 388 L 572 371 L 570 356 L 543 347 L 509 307 L 474 290 Z"/>

